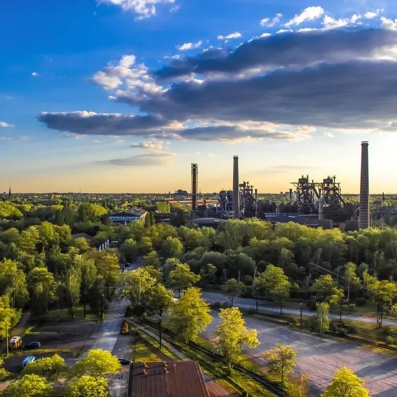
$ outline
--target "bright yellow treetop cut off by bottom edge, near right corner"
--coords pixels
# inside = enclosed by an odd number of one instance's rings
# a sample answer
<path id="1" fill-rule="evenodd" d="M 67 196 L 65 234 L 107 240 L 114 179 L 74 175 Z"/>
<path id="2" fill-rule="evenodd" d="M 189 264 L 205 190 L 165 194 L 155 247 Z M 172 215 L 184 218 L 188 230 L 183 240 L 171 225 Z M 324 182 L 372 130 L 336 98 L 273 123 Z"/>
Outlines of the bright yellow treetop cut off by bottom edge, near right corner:
<path id="1" fill-rule="evenodd" d="M 321 397 L 369 397 L 370 393 L 360 379 L 349 368 L 342 367 L 336 371 L 332 382 Z"/>

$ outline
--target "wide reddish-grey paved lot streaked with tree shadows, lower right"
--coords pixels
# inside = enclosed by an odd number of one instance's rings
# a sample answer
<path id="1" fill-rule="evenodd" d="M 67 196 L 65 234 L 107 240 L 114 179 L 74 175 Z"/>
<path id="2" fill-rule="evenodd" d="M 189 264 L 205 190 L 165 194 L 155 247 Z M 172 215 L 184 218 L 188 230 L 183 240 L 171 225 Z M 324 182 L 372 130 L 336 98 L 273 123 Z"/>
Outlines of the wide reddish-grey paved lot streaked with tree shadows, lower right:
<path id="1" fill-rule="evenodd" d="M 209 339 L 213 337 L 212 332 L 219 322 L 218 313 L 213 311 L 211 314 L 214 320 L 204 333 Z M 250 317 L 245 318 L 245 322 L 248 328 L 257 329 L 260 341 L 256 349 L 247 349 L 245 353 L 260 364 L 264 364 L 261 358 L 263 351 L 272 349 L 276 342 L 296 347 L 298 372 L 310 375 L 313 397 L 324 391 L 335 371 L 343 366 L 351 368 L 366 380 L 371 396 L 397 396 L 397 358 L 391 354 L 377 353 L 356 343 L 321 338 Z"/>

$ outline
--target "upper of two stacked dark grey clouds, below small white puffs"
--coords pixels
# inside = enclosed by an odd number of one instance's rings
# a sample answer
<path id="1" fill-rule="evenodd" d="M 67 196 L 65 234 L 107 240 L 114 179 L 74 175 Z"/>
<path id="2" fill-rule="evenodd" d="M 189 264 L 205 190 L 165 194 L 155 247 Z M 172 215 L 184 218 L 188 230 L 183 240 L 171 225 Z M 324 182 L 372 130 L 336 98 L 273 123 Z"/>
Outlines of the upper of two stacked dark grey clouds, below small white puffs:
<path id="1" fill-rule="evenodd" d="M 237 73 L 247 69 L 269 70 L 317 62 L 343 62 L 369 58 L 379 48 L 397 43 L 397 33 L 386 29 L 291 32 L 257 38 L 227 52 L 210 49 L 194 57 L 173 60 L 154 72 L 159 79 L 195 72 Z"/>

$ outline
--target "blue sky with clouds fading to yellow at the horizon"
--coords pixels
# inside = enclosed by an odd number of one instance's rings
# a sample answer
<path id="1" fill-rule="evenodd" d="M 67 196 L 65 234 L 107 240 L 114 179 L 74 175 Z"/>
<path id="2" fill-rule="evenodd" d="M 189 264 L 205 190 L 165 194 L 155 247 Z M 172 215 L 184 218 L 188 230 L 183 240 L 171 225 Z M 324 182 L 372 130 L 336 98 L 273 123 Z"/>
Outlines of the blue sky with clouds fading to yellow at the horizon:
<path id="1" fill-rule="evenodd" d="M 394 0 L 2 0 L 0 191 L 396 193 Z"/>

